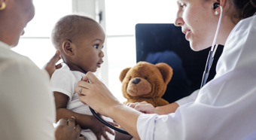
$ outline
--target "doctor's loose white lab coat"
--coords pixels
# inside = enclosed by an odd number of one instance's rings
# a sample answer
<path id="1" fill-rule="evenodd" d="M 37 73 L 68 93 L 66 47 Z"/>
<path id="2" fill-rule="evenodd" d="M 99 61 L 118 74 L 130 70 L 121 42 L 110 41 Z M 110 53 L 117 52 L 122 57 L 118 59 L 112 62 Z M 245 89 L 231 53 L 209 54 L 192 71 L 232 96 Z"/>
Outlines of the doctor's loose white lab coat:
<path id="1" fill-rule="evenodd" d="M 143 140 L 253 138 L 256 134 L 256 16 L 235 26 L 216 72 L 215 78 L 201 90 L 179 100 L 180 107 L 175 113 L 141 114 L 137 121 L 139 137 Z"/>

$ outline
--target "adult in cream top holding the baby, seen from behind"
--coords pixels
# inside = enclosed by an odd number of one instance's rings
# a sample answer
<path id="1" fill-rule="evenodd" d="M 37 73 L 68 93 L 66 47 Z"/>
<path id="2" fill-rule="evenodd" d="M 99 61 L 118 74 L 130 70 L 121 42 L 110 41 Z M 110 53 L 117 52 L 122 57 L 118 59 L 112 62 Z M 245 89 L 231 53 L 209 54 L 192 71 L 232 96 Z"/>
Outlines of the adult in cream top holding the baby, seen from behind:
<path id="1" fill-rule="evenodd" d="M 54 129 L 56 112 L 49 76 L 30 59 L 11 50 L 34 15 L 32 0 L 0 0 L 0 138 L 84 139 L 79 137 L 81 128 L 75 126 L 75 117 L 59 120 Z M 56 55 L 51 62 L 58 59 Z M 55 66 L 49 65 L 51 73 Z"/>

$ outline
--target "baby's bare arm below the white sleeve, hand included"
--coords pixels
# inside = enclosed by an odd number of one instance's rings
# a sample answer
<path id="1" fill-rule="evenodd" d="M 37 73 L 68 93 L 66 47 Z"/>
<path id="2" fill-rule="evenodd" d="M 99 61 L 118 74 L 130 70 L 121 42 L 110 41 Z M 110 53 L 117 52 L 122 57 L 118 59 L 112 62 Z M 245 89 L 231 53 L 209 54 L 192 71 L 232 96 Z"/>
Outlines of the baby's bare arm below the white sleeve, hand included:
<path id="1" fill-rule="evenodd" d="M 56 104 L 56 121 L 61 118 L 69 119 L 69 117 L 74 116 L 75 123 L 80 125 L 82 129 L 92 130 L 98 139 L 101 137 L 101 135 L 103 135 L 105 139 L 108 139 L 106 132 L 114 135 L 114 132 L 111 129 L 99 122 L 99 120 L 97 120 L 93 115 L 78 114 L 67 109 L 66 106 L 69 102 L 69 96 L 66 96 L 63 93 L 54 92 L 54 97 Z"/>

